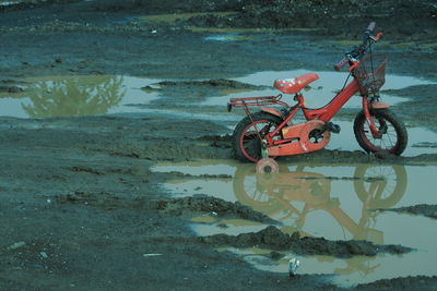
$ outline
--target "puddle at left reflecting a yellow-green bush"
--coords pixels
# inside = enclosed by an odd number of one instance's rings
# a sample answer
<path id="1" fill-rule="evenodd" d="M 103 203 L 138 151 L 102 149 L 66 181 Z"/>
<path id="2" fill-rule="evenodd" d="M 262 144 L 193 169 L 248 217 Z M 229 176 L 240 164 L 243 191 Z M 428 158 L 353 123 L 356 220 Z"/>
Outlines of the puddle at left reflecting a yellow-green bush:
<path id="1" fill-rule="evenodd" d="M 17 118 L 78 117 L 105 113 L 142 112 L 130 104 L 147 104 L 156 93 L 141 87 L 158 80 L 71 75 L 26 78 L 20 93 L 0 94 L 0 116 Z"/>

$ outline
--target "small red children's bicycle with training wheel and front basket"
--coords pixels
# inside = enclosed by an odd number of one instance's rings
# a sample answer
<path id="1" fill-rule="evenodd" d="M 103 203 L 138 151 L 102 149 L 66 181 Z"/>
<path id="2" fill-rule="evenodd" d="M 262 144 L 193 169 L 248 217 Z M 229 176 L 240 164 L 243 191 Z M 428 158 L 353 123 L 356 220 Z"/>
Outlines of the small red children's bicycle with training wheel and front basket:
<path id="1" fill-rule="evenodd" d="M 294 106 L 282 101 L 282 94 L 231 98 L 228 111 L 233 107 L 241 107 L 247 114 L 233 133 L 236 156 L 252 162 L 262 159 L 259 169 L 272 171 L 277 166 L 271 158 L 322 149 L 330 141 L 331 132 L 340 132 L 340 126 L 332 123 L 331 119 L 356 93 L 363 98 L 363 110 L 354 121 L 354 134 L 359 146 L 367 153 L 387 151 L 401 155 L 406 147 L 408 133 L 404 124 L 390 112 L 390 106 L 380 101 L 379 88 L 385 83 L 387 57 L 371 52 L 371 45 L 382 36 L 382 33 L 374 36 L 374 29 L 375 22 L 364 33 L 363 43 L 334 65 L 340 71 L 349 63 L 347 71 L 353 80 L 322 108 L 307 108 L 300 93 L 319 78 L 316 73 L 274 81 L 273 86 L 283 94 L 294 94 Z M 256 113 L 249 110 L 249 107 L 268 105 L 281 106 L 281 109 L 261 107 L 261 111 Z M 299 110 L 303 111 L 306 122 L 295 124 L 293 118 Z"/>

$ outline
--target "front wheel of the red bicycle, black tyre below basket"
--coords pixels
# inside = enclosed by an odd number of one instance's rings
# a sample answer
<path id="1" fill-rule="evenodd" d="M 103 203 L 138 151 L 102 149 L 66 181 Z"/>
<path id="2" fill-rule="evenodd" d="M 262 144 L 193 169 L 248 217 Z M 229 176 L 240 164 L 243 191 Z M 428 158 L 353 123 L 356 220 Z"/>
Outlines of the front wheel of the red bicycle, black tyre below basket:
<path id="1" fill-rule="evenodd" d="M 367 153 L 388 151 L 401 155 L 408 143 L 408 133 L 403 123 L 387 109 L 371 110 L 370 116 L 381 137 L 375 138 L 371 135 L 366 117 L 361 111 L 354 121 L 354 133 L 359 146 Z"/>

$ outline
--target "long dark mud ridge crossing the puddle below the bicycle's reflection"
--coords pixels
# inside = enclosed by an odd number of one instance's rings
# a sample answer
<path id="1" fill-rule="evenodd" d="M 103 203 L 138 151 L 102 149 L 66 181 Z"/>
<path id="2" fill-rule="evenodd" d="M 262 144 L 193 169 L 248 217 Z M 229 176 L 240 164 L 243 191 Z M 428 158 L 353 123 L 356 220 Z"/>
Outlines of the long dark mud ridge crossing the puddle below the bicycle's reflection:
<path id="1" fill-rule="evenodd" d="M 331 255 L 335 257 L 375 256 L 378 253 L 403 254 L 412 251 L 412 248 L 402 245 L 377 245 L 367 241 L 329 241 L 324 238 L 300 238 L 298 232 L 288 235 L 272 226 L 259 232 L 241 233 L 236 237 L 214 234 L 199 238 L 199 240 L 215 245 L 262 246 L 273 250 L 287 250 L 298 255 Z"/>

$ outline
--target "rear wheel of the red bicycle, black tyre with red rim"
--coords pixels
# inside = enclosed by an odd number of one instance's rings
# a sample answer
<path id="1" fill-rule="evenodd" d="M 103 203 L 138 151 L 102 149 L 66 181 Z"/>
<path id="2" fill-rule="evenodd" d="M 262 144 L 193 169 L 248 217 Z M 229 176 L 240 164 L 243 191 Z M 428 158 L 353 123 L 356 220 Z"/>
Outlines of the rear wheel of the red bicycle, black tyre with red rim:
<path id="1" fill-rule="evenodd" d="M 233 134 L 233 146 L 237 158 L 244 161 L 258 161 L 261 158 L 261 138 L 269 132 L 274 131 L 282 119 L 267 112 L 257 112 L 244 118 L 235 128 Z M 253 121 L 253 122 L 252 122 Z M 257 131 L 258 130 L 258 131 Z"/>

